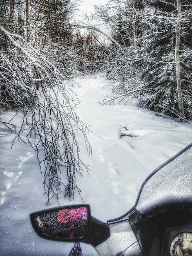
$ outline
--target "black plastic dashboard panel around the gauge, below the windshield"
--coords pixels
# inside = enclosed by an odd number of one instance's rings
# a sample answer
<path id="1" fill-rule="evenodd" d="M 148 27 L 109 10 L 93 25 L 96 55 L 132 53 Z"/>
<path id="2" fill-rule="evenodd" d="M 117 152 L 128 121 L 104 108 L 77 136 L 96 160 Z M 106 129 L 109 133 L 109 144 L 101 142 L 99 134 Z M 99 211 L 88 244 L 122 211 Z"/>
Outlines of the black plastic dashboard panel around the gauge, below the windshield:
<path id="1" fill-rule="evenodd" d="M 181 232 L 192 232 L 192 210 L 169 211 L 151 216 L 141 216 L 135 211 L 129 222 L 144 256 L 170 256 L 173 238 Z"/>

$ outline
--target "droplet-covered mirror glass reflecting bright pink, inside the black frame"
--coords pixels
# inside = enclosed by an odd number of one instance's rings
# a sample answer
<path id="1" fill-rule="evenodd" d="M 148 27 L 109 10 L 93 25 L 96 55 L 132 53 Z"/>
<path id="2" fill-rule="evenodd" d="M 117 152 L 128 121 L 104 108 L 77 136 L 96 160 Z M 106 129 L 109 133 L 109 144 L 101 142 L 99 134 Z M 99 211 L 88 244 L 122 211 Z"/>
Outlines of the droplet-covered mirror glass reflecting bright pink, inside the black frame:
<path id="1" fill-rule="evenodd" d="M 86 207 L 55 209 L 40 213 L 35 222 L 42 234 L 59 239 L 82 238 L 87 233 Z"/>

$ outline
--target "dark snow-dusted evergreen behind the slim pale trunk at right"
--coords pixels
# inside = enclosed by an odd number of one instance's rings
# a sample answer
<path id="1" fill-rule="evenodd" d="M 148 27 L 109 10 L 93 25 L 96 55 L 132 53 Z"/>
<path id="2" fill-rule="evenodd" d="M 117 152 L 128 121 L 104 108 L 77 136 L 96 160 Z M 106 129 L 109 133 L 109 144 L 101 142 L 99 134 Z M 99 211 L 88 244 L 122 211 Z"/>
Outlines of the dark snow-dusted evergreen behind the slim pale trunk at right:
<path id="1" fill-rule="evenodd" d="M 145 12 L 141 22 L 146 31 L 142 38 L 144 46 L 140 51 L 144 58 L 141 64 L 143 69 L 141 79 L 144 88 L 153 90 L 147 97 L 143 94 L 140 106 L 175 117 L 179 116 L 182 120 L 184 117 L 190 119 L 192 118 L 191 1 L 181 2 L 180 16 L 178 0 L 167 0 L 166 3 L 161 0 L 143 2 L 146 4 L 147 13 L 150 11 L 151 14 L 146 15 Z M 178 71 L 181 78 L 181 95 L 178 89 Z M 184 115 L 179 97 L 183 100 Z"/>

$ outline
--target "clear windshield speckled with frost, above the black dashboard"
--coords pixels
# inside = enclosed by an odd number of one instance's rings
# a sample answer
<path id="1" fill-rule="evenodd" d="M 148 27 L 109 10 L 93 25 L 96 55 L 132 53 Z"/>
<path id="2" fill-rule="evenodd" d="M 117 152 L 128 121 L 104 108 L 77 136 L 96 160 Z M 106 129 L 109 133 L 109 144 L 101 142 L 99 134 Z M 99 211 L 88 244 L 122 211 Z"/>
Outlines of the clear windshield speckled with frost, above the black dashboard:
<path id="1" fill-rule="evenodd" d="M 146 182 L 136 209 L 145 214 L 164 204 L 181 202 L 192 203 L 192 146 Z"/>

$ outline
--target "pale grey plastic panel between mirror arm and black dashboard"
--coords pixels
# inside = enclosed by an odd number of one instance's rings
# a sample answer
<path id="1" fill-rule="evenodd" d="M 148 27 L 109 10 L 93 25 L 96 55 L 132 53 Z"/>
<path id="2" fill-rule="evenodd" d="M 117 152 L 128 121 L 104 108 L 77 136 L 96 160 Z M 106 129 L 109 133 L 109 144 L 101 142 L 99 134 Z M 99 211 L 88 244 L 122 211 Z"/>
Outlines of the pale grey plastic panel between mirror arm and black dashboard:
<path id="1" fill-rule="evenodd" d="M 95 247 L 99 255 L 115 256 L 136 242 L 128 220 L 109 225 L 111 236 L 104 243 Z"/>

